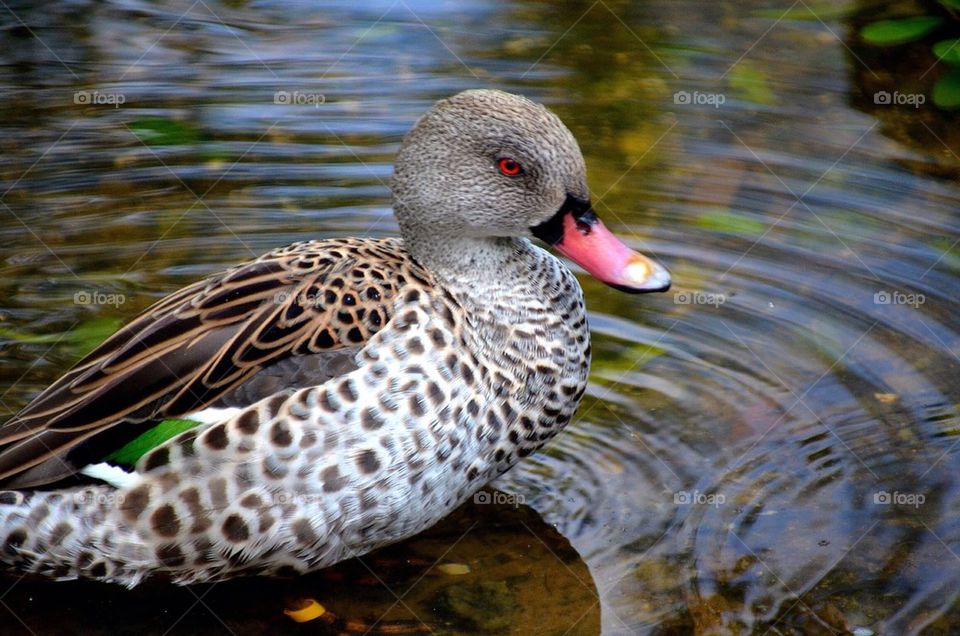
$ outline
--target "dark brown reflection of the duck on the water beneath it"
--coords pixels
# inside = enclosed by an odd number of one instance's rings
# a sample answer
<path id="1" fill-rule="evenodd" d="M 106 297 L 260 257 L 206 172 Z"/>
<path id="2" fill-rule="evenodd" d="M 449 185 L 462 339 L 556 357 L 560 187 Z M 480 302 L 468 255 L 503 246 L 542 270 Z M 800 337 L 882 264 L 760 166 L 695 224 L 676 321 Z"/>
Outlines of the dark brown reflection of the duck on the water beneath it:
<path id="1" fill-rule="evenodd" d="M 469 502 L 411 540 L 295 579 L 133 590 L 0 579 L 0 633 L 597 634 L 586 564 L 530 508 Z M 284 613 L 313 599 L 326 612 Z M 4 611 L 5 610 L 5 611 Z"/>

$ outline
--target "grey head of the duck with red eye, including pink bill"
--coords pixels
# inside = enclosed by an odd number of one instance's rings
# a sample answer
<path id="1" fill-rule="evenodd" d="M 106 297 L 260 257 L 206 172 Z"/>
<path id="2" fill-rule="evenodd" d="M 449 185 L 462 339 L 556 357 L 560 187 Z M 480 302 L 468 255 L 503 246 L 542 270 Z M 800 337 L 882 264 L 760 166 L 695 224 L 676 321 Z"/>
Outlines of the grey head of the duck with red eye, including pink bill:
<path id="1" fill-rule="evenodd" d="M 417 243 L 533 236 L 616 289 L 670 287 L 666 269 L 594 213 L 573 134 L 524 97 L 469 90 L 438 102 L 404 139 L 391 189 L 415 258 Z"/>

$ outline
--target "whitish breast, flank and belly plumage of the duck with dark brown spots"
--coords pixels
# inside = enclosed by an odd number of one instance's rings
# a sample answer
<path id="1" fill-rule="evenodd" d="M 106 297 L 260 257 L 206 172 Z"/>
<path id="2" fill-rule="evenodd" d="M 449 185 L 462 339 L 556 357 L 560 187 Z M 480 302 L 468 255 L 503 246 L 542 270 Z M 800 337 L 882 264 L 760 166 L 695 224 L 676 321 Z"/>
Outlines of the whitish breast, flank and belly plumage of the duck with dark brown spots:
<path id="1" fill-rule="evenodd" d="M 561 430 L 582 396 L 579 286 L 538 248 L 525 260 L 531 284 L 554 290 L 570 320 L 545 316 L 539 297 L 497 303 L 408 283 L 356 370 L 182 433 L 144 456 L 124 490 L 34 493 L 0 508 L 12 561 L 126 585 L 152 573 L 181 583 L 289 575 L 432 525 Z M 47 531 L 27 523 L 38 510 Z M 63 563 L 72 567 L 58 572 Z"/>

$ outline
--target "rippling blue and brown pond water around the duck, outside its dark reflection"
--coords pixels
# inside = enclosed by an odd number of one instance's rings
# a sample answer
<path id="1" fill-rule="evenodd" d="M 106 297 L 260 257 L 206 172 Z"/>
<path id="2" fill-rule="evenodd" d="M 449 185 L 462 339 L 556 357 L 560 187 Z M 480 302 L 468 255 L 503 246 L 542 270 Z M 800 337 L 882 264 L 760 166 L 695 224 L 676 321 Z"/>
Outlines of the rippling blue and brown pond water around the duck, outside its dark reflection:
<path id="1" fill-rule="evenodd" d="M 409 606 L 365 591 L 356 564 L 133 596 L 11 579 L 4 629 L 106 632 L 122 613 L 138 633 L 321 630 L 282 615 L 293 594 L 358 633 L 960 633 L 956 118 L 870 98 L 891 72 L 856 45 L 857 9 L 0 8 L 4 413 L 208 273 L 394 235 L 392 155 L 465 88 L 549 104 L 598 214 L 674 278 L 641 297 L 581 278 L 595 355 L 578 417 L 495 484 L 529 508 L 468 506 L 484 523 L 398 546 L 420 560 L 397 579 L 369 561 Z M 451 559 L 465 592 L 424 578 Z M 215 611 L 193 602 L 207 593 Z"/>

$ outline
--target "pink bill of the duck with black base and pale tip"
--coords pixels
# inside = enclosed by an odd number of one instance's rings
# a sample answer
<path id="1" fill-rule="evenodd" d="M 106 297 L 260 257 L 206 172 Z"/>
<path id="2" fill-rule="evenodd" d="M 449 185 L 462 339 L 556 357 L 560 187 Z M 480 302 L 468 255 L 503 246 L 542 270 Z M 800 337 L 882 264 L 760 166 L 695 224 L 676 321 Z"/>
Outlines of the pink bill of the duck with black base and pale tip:
<path id="1" fill-rule="evenodd" d="M 589 201 L 568 196 L 559 212 L 532 231 L 591 276 L 615 289 L 631 294 L 670 289 L 670 272 L 624 245 L 600 222 Z"/>

